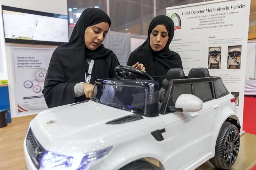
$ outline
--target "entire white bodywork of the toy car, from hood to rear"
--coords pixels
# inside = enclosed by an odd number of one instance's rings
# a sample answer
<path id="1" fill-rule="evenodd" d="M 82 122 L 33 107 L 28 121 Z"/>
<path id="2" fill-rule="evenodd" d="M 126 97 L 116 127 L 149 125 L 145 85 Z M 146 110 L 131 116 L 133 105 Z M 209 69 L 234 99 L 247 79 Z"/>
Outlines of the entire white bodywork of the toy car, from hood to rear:
<path id="1" fill-rule="evenodd" d="M 238 120 L 234 96 L 228 94 L 203 103 L 197 112 L 173 112 L 124 124 L 106 122 L 132 115 L 132 112 L 88 101 L 65 105 L 39 113 L 31 122 L 36 139 L 46 151 L 72 156 L 109 146 L 105 157 L 92 162 L 89 170 L 117 170 L 141 159 L 155 158 L 165 170 L 195 169 L 214 156 L 216 139 L 223 122 Z M 71 116 L 70 116 L 71 115 Z M 48 123 L 52 121 L 52 123 Z M 203 127 L 203 128 L 202 128 Z M 164 140 L 151 132 L 165 129 Z M 24 141 L 28 170 L 35 170 Z"/>

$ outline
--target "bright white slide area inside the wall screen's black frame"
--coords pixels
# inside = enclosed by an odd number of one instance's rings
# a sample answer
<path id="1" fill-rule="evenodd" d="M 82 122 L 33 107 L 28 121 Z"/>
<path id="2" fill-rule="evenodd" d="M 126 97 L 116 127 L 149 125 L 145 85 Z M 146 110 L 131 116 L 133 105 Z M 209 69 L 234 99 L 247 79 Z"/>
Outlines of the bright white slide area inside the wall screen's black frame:
<path id="1" fill-rule="evenodd" d="M 68 42 L 68 20 L 3 10 L 5 38 Z"/>

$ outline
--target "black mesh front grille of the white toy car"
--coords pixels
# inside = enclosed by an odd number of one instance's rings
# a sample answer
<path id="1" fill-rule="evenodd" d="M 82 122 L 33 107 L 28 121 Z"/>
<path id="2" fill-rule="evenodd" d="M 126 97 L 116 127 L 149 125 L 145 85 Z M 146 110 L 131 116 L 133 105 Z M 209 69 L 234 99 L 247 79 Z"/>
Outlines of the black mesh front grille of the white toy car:
<path id="1" fill-rule="evenodd" d="M 39 169 L 41 158 L 46 151 L 36 140 L 36 137 L 34 136 L 31 129 L 28 130 L 26 145 L 31 160 L 33 161 L 34 165 Z"/>

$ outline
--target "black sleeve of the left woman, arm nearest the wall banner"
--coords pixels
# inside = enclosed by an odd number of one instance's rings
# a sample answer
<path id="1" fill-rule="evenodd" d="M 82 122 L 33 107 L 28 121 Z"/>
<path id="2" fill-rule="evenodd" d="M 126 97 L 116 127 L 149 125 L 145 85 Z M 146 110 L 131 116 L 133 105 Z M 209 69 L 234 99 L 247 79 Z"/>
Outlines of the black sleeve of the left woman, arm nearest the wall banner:
<path id="1" fill-rule="evenodd" d="M 60 54 L 55 50 L 44 81 L 43 94 L 49 108 L 75 102 L 74 86 L 76 83 L 66 81 L 62 61 L 58 55 Z"/>

